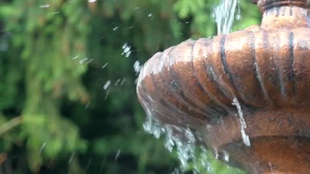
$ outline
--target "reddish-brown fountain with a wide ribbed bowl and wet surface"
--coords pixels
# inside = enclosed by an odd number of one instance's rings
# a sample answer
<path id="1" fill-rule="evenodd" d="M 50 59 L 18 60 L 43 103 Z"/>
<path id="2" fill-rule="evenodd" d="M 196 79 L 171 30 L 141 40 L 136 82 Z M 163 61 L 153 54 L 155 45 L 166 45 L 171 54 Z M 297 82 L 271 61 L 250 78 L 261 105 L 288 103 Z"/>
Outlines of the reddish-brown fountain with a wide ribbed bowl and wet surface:
<path id="1" fill-rule="evenodd" d="M 149 59 L 138 79 L 145 111 L 200 133 L 249 173 L 310 173 L 307 0 L 259 0 L 262 24 L 188 40 Z"/>

